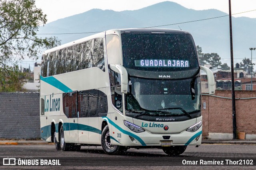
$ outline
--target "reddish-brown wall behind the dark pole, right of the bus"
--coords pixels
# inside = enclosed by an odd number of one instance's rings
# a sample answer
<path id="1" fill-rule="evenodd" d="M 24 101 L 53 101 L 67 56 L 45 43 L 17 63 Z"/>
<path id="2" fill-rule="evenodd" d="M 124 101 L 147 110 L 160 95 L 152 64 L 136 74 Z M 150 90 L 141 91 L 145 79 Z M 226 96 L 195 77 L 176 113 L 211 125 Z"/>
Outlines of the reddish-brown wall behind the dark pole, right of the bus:
<path id="1" fill-rule="evenodd" d="M 231 98 L 231 90 L 216 90 L 215 96 Z M 256 97 L 256 91 L 236 91 L 236 98 L 252 97 Z M 202 108 L 202 135 L 212 139 L 218 136 L 220 139 L 230 139 L 233 133 L 232 100 L 202 95 L 203 102 L 207 107 Z M 245 132 L 247 139 L 256 139 L 256 99 L 236 100 L 236 125 L 237 131 Z"/>

